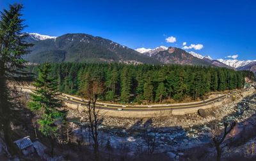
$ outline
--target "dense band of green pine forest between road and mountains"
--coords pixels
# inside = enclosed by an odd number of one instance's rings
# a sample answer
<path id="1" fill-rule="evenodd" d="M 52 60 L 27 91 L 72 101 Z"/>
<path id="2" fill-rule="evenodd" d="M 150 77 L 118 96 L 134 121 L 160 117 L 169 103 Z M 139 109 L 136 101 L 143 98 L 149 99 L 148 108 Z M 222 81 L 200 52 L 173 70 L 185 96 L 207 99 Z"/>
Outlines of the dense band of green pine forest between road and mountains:
<path id="1" fill-rule="evenodd" d="M 197 99 L 211 91 L 243 88 L 244 78 L 253 78 L 250 71 L 205 66 L 61 63 L 51 68 L 61 92 L 86 95 L 93 84 L 102 88 L 100 99 L 122 102 Z"/>

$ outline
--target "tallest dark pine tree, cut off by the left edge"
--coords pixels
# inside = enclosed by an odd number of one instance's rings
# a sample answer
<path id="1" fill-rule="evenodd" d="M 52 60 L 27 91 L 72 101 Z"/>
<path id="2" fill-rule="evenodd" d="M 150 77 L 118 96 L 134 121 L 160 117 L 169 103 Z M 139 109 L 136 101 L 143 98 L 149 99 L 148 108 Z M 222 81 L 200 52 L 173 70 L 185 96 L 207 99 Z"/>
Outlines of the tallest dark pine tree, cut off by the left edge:
<path id="1" fill-rule="evenodd" d="M 31 74 L 25 70 L 25 60 L 22 56 L 27 54 L 31 46 L 24 42 L 26 35 L 22 34 L 25 25 L 20 17 L 21 4 L 10 5 L 9 10 L 0 13 L 0 130 L 3 130 L 4 140 L 8 150 L 14 151 L 12 132 L 10 130 L 10 116 L 12 113 L 10 97 L 10 81 L 31 80 Z"/>

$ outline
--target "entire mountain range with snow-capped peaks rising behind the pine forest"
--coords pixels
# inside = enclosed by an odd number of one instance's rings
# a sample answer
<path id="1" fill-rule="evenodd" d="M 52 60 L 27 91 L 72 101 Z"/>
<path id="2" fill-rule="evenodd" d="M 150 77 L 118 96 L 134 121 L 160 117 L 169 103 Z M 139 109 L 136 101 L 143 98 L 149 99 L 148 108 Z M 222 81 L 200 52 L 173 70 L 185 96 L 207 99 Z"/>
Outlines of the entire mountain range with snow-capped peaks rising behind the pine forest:
<path id="1" fill-rule="evenodd" d="M 238 69 L 254 61 L 214 60 L 210 56 L 202 56 L 172 46 L 169 48 L 158 46 L 156 48 L 137 48 L 133 50 L 110 39 L 90 34 L 64 34 L 58 37 L 38 33 L 25 34 L 28 34 L 26 41 L 35 44 L 31 48 L 31 53 L 25 57 L 26 60 L 32 63 L 46 61 L 121 62 L 125 64 L 189 64 Z M 39 57 L 40 59 L 38 59 Z"/>

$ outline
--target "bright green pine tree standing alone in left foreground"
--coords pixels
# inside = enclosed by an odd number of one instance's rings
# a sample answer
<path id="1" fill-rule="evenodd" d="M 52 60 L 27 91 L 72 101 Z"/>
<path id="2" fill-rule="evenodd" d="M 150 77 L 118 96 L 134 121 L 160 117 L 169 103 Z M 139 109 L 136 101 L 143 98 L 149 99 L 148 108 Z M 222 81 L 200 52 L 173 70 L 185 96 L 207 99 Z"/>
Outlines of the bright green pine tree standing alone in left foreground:
<path id="1" fill-rule="evenodd" d="M 51 78 L 51 65 L 46 63 L 39 69 L 39 75 L 33 85 L 36 87 L 35 92 L 31 94 L 31 101 L 28 103 L 31 111 L 38 115 L 39 130 L 45 137 L 51 139 L 51 154 L 54 150 L 54 139 L 58 136 L 57 121 L 63 121 L 65 115 L 61 111 L 63 102 L 56 97 L 58 85 L 55 78 Z"/>

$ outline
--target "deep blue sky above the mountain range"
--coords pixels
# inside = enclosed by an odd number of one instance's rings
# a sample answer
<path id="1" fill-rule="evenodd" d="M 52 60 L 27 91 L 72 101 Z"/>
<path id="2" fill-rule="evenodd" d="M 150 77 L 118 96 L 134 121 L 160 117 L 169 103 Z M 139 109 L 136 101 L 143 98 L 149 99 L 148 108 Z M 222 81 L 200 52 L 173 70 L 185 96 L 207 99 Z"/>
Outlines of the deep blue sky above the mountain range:
<path id="1" fill-rule="evenodd" d="M 15 2 L 24 4 L 26 32 L 86 33 L 130 48 L 186 42 L 186 50 L 214 59 L 256 59 L 254 0 L 0 0 L 0 10 Z"/>

